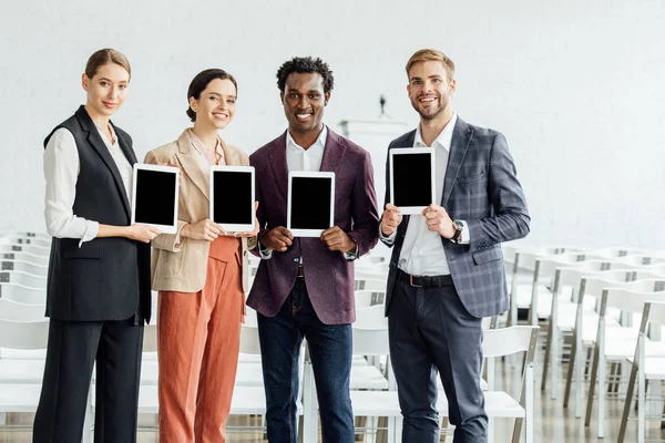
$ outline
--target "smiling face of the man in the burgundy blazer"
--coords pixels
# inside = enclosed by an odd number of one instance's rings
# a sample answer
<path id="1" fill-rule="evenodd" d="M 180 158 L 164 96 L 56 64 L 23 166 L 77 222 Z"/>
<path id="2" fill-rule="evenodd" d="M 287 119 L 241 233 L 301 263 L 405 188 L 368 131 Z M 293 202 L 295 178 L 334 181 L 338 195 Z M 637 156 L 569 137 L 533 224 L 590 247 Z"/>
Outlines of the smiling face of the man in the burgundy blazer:
<path id="1" fill-rule="evenodd" d="M 291 132 L 318 134 L 323 130 L 324 107 L 330 92 L 324 92 L 321 74 L 291 72 L 279 96 Z"/>

